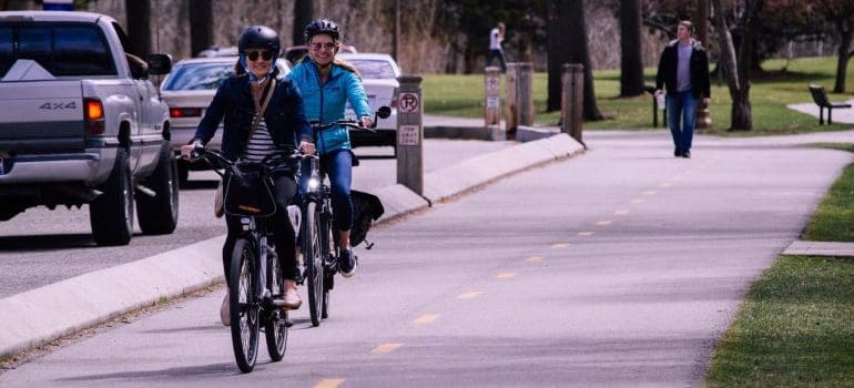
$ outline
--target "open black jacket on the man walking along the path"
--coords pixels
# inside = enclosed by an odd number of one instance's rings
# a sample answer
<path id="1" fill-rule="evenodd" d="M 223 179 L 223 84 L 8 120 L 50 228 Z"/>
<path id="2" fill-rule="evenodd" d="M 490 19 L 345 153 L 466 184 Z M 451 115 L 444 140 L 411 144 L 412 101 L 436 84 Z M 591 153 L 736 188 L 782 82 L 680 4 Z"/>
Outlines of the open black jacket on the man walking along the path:
<path id="1" fill-rule="evenodd" d="M 655 89 L 660 90 L 663 83 L 668 94 L 677 92 L 678 44 L 679 40 L 674 40 L 664 48 L 659 61 L 659 72 L 655 75 Z M 710 98 L 709 57 L 700 42 L 691 40 L 691 92 L 695 99 Z"/>

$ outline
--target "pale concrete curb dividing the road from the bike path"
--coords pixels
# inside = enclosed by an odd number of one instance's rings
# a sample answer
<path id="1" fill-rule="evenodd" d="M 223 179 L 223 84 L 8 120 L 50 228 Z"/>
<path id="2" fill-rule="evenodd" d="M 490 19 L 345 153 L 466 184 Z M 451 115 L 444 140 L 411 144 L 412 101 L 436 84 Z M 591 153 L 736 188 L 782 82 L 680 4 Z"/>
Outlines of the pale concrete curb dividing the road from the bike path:
<path id="1" fill-rule="evenodd" d="M 379 188 L 374 194 L 380 198 L 386 212 L 377 223 L 580 152 L 583 152 L 581 144 L 566 134 L 558 134 L 427 173 L 424 196 L 399 184 Z M 223 282 L 224 241 L 224 235 L 210 238 L 0 299 L 0 357 Z"/>

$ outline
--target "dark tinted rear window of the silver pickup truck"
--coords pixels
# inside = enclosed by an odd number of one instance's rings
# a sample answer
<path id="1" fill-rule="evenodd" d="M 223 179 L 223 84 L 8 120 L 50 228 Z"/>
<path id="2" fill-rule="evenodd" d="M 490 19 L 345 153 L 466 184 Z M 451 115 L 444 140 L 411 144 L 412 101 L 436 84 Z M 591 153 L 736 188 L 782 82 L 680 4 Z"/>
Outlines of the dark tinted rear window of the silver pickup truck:
<path id="1" fill-rule="evenodd" d="M 0 41 L 2 37 L 0 32 Z M 0 43 L 0 53 L 2 50 Z M 57 76 L 116 74 L 106 41 L 94 25 L 88 24 L 20 25 L 17 52 L 0 58 L 9 58 L 9 67 L 18 59 L 31 59 Z M 3 64 L 0 62 L 0 67 Z M 9 68 L 0 71 L 6 73 Z"/>

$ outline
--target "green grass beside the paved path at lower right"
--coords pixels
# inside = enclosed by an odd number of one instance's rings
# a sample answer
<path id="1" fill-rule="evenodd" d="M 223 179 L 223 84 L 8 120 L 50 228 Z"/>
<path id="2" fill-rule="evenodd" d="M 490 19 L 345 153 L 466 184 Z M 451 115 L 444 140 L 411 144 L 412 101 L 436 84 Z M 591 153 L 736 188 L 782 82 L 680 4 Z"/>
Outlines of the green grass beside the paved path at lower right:
<path id="1" fill-rule="evenodd" d="M 830 145 L 854 152 L 854 145 Z M 804 239 L 854 241 L 854 164 Z M 709 369 L 712 387 L 854 387 L 854 259 L 781 256 L 748 293 Z"/>

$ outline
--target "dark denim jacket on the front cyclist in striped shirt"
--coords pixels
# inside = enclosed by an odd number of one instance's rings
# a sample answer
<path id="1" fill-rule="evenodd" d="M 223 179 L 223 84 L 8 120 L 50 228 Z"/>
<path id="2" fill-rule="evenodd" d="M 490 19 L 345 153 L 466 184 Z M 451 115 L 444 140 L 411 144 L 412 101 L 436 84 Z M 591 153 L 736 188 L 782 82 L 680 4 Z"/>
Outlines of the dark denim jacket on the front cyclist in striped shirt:
<path id="1" fill-rule="evenodd" d="M 264 111 L 264 120 L 273 142 L 276 146 L 298 145 L 301 140 L 311 142 L 312 126 L 305 119 L 299 90 L 289 80 L 281 79 L 276 82 L 276 90 Z M 211 141 L 223 116 L 225 124 L 222 151 L 226 157 L 235 160 L 246 149 L 252 119 L 255 116 L 255 103 L 246 74 L 223 81 L 199 123 L 193 141 L 200 140 L 202 144 Z"/>

